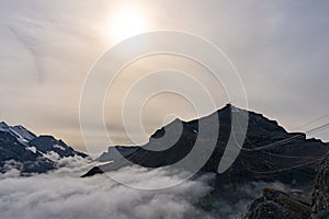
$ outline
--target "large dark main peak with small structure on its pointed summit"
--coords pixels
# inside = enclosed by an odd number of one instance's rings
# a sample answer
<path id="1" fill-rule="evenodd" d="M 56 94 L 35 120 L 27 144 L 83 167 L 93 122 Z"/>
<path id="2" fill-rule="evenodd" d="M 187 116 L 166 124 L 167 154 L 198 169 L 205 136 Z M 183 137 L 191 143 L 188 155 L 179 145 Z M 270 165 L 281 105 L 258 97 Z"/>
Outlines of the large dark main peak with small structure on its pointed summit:
<path id="1" fill-rule="evenodd" d="M 95 166 L 83 176 L 114 171 L 131 163 L 146 168 L 171 165 L 189 154 L 197 138 L 203 142 L 206 151 L 209 139 L 198 137 L 198 124 L 215 116 L 219 120 L 216 147 L 201 171 L 217 173 L 231 131 L 232 111 L 236 114 L 239 112 L 248 113 L 247 135 L 242 150 L 232 165 L 225 173 L 217 174 L 218 184 L 280 181 L 292 186 L 303 186 L 313 182 L 316 175 L 315 165 L 329 151 L 328 143 L 316 139 L 307 139 L 306 135 L 302 132 L 287 132 L 277 122 L 270 120 L 258 113 L 237 108 L 230 104 L 209 116 L 191 122 L 175 119 L 166 127 L 158 129 L 150 137 L 148 143 L 140 146 L 133 153 L 124 155 L 125 159 Z M 181 130 L 175 130 L 178 124 L 181 125 Z M 206 128 L 212 129 L 211 126 Z M 166 135 L 170 132 L 181 132 L 179 139 L 170 148 L 159 151 L 148 150 L 148 148 L 155 148 L 155 146 L 161 148 L 168 143 Z M 202 150 L 198 155 L 203 155 Z"/>

